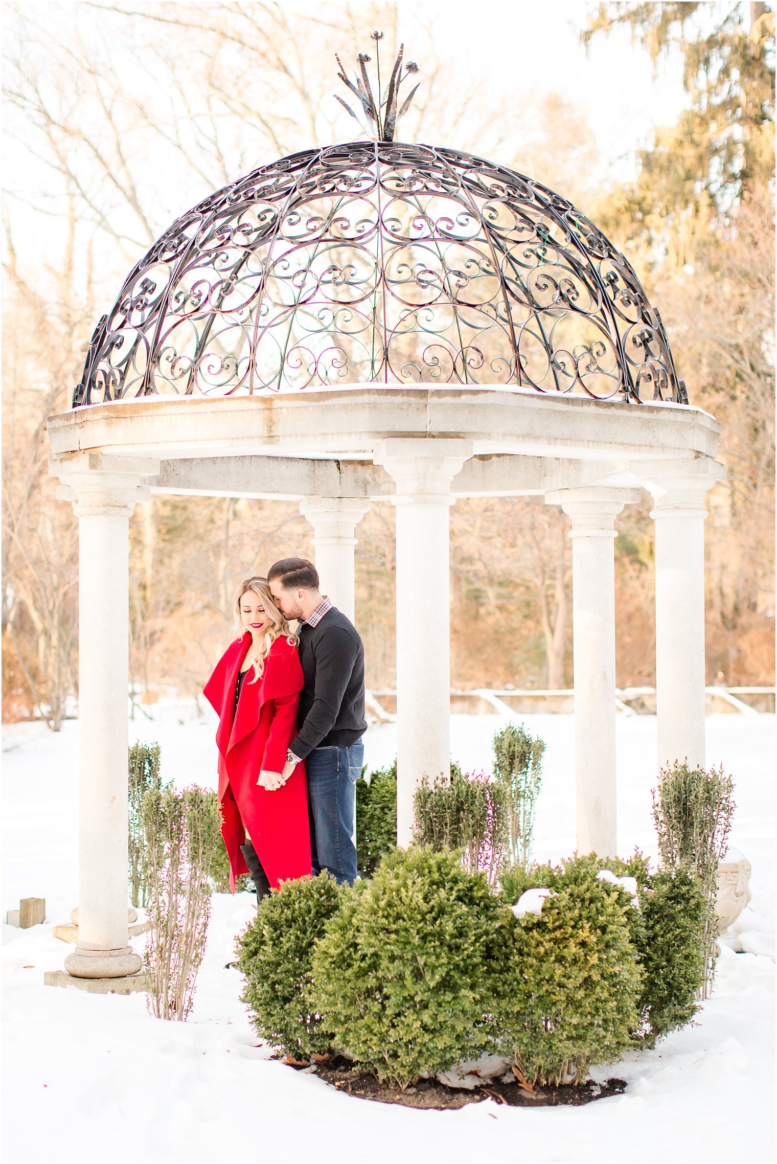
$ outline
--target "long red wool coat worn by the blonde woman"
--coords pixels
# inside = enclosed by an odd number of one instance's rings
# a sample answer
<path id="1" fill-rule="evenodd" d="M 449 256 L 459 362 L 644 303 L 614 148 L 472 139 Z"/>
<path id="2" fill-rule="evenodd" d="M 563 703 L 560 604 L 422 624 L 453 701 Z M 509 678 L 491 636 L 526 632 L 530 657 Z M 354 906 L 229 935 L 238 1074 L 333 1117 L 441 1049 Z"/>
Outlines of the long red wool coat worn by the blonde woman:
<path id="1" fill-rule="evenodd" d="M 237 673 L 251 645 L 247 632 L 229 646 L 204 688 L 219 716 L 219 803 L 221 835 L 229 854 L 229 887 L 248 873 L 240 846 L 245 832 L 254 842 L 270 885 L 311 873 L 311 832 L 307 815 L 305 765 L 298 764 L 276 792 L 258 788 L 259 772 L 281 772 L 286 751 L 297 733 L 297 705 L 302 689 L 302 668 L 297 647 L 276 639 L 264 662 L 264 673 L 243 680 L 235 715 Z"/>

